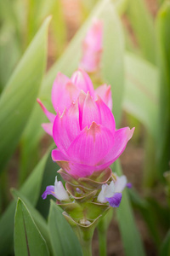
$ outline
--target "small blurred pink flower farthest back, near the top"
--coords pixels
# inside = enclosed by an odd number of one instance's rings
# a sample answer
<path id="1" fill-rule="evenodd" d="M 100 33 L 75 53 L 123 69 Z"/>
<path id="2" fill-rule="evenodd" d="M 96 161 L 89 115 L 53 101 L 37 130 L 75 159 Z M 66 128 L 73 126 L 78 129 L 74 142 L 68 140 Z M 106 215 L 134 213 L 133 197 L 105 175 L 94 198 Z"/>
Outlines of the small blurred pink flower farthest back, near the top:
<path id="1" fill-rule="evenodd" d="M 103 49 L 103 23 L 94 20 L 82 42 L 82 60 L 80 67 L 88 73 L 98 71 Z"/>

